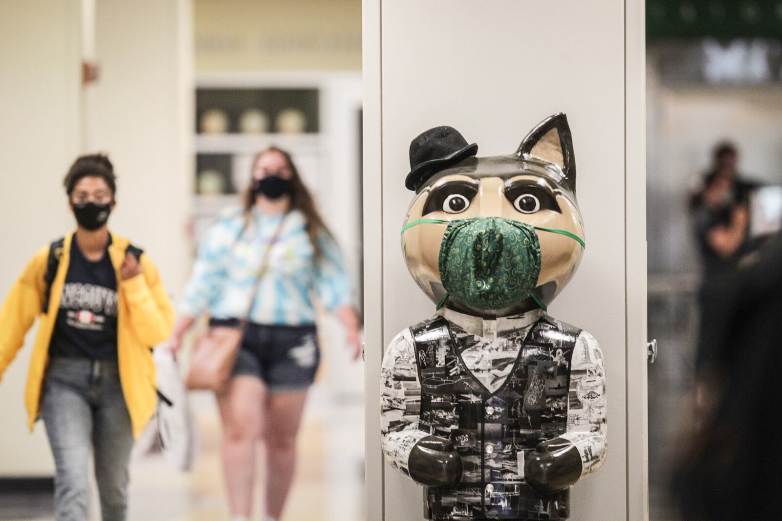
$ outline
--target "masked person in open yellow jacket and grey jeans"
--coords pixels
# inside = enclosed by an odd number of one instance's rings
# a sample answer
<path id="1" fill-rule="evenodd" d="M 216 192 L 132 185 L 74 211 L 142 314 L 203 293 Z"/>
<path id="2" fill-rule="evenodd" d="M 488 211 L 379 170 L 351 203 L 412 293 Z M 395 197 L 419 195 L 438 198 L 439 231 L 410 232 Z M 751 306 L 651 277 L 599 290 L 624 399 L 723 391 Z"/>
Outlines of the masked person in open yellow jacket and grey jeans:
<path id="1" fill-rule="evenodd" d="M 87 519 L 91 453 L 102 521 L 126 519 L 131 447 L 157 404 L 152 347 L 174 325 L 152 260 L 107 228 L 115 179 L 104 155 L 74 162 L 76 232 L 34 255 L 0 309 L 0 379 L 39 318 L 25 403 L 52 447 L 57 521 Z"/>

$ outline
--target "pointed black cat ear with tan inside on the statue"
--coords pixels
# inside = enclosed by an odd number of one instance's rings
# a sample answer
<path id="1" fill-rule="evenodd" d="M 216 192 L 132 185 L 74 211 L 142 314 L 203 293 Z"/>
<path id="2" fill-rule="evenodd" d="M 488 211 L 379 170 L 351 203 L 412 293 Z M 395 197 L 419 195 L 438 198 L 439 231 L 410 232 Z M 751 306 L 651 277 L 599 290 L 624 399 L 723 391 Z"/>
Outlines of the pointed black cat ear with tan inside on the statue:
<path id="1" fill-rule="evenodd" d="M 576 193 L 576 156 L 573 154 L 568 117 L 564 113 L 554 114 L 541 121 L 522 140 L 516 155 L 557 165 L 562 171 L 562 178 L 558 182 Z"/>

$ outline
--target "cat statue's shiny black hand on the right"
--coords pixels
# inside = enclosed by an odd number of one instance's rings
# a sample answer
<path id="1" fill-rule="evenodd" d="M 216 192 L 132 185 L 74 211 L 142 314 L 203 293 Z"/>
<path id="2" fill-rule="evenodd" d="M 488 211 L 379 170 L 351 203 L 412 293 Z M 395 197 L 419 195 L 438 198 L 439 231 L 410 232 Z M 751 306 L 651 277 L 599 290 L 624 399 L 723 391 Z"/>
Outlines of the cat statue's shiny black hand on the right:
<path id="1" fill-rule="evenodd" d="M 524 477 L 541 494 L 565 490 L 581 477 L 581 455 L 568 440 L 543 441 L 527 456 Z"/>

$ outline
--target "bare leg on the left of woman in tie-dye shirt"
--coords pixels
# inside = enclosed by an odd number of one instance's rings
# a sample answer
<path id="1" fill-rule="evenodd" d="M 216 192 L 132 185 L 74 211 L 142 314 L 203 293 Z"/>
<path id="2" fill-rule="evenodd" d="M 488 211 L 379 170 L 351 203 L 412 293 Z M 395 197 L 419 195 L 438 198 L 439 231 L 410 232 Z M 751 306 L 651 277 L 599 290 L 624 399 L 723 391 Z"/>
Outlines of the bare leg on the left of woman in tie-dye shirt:
<path id="1" fill-rule="evenodd" d="M 263 422 L 266 386 L 253 376 L 236 376 L 217 395 L 223 420 L 223 472 L 231 516 L 253 508 L 256 440 Z"/>

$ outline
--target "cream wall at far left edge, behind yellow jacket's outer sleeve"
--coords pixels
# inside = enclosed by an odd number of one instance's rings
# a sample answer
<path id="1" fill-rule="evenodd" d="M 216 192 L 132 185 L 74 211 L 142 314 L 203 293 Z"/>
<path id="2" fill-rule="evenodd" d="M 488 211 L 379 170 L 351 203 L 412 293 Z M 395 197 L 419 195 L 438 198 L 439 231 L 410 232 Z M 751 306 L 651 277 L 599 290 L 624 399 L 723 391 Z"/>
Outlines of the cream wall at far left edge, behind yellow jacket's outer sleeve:
<path id="1" fill-rule="evenodd" d="M 0 1 L 0 298 L 35 250 L 72 225 L 62 181 L 79 149 L 80 2 Z M 23 407 L 34 331 L 0 384 L 0 477 L 52 474 Z"/>

